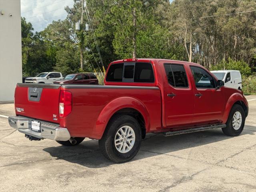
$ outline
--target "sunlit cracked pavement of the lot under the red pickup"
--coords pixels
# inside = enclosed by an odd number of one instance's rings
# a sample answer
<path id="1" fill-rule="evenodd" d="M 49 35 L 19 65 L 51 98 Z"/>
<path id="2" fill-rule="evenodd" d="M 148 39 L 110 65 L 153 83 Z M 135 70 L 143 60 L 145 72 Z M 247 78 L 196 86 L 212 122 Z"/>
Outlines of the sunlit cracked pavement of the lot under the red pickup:
<path id="1" fill-rule="evenodd" d="M 221 130 L 164 137 L 148 134 L 130 162 L 113 164 L 97 140 L 65 147 L 29 141 L 4 116 L 0 104 L 1 192 L 256 192 L 256 96 L 246 96 L 249 115 L 238 137 Z"/>

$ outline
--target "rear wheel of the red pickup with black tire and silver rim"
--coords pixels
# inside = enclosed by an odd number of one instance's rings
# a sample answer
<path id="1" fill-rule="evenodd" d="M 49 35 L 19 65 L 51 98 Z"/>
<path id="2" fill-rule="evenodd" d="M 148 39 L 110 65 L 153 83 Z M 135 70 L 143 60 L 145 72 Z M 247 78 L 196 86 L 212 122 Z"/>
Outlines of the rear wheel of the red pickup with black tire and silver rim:
<path id="1" fill-rule="evenodd" d="M 131 160 L 138 153 L 142 132 L 138 121 L 129 115 L 116 115 L 110 120 L 99 140 L 102 154 L 116 163 Z"/>

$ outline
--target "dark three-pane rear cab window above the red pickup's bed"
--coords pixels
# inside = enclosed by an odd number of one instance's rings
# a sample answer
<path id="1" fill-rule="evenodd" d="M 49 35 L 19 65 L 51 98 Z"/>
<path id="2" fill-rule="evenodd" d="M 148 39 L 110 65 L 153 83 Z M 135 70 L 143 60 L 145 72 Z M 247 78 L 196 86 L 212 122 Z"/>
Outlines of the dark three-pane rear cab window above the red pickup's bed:
<path id="1" fill-rule="evenodd" d="M 107 82 L 155 82 L 151 63 L 127 62 L 112 64 L 106 76 Z"/>

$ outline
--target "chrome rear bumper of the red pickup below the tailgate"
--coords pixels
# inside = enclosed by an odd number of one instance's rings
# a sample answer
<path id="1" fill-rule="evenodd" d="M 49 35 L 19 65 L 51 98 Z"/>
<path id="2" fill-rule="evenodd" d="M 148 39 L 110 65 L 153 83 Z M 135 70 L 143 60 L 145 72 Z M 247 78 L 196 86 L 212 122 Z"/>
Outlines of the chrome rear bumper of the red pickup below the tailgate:
<path id="1" fill-rule="evenodd" d="M 41 122 L 41 132 L 37 132 L 31 129 L 31 120 L 33 119 L 22 116 L 10 116 L 8 118 L 8 122 L 11 127 L 18 129 L 19 132 L 26 135 L 30 135 L 38 139 L 51 139 L 56 141 L 67 141 L 70 139 L 70 134 L 67 128 L 38 120 Z"/>

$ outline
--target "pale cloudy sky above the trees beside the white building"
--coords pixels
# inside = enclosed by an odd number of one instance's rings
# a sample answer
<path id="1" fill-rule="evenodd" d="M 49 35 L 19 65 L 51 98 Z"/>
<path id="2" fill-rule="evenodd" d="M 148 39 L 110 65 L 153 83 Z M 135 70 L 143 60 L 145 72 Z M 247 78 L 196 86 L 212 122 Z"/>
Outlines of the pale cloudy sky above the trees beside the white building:
<path id="1" fill-rule="evenodd" d="M 21 16 L 31 22 L 34 31 L 42 31 L 53 20 L 65 19 L 64 7 L 73 7 L 74 0 L 20 0 Z"/>

